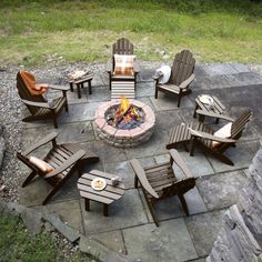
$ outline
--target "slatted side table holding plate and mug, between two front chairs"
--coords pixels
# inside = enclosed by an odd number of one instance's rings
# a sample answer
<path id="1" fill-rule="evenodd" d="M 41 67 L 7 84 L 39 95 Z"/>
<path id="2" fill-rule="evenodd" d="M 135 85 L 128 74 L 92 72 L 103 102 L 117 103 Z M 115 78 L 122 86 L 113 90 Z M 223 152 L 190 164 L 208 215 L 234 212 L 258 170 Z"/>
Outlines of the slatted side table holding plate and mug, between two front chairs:
<path id="1" fill-rule="evenodd" d="M 113 177 L 115 175 L 98 170 L 92 170 L 89 173 L 81 175 L 78 180 L 78 189 L 80 191 L 80 195 L 84 199 L 87 211 L 90 211 L 90 200 L 97 201 L 103 204 L 103 214 L 107 216 L 108 205 L 123 196 L 124 184 L 119 182 L 117 185 L 112 185 L 111 178 Z M 103 190 L 97 191 L 91 187 L 91 182 L 95 178 L 102 178 L 107 181 L 107 187 Z"/>

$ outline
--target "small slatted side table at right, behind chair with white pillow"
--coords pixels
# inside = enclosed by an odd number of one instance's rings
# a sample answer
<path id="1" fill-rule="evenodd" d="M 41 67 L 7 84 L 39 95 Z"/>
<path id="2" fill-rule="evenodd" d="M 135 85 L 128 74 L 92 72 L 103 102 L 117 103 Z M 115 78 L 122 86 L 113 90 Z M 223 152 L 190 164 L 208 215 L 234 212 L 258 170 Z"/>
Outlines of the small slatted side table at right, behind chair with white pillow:
<path id="1" fill-rule="evenodd" d="M 200 100 L 200 95 L 194 100 L 195 102 L 195 108 L 194 108 L 194 113 L 193 113 L 193 118 L 196 117 L 196 110 L 201 109 L 205 112 L 213 112 L 216 114 L 223 114 L 225 111 L 225 107 L 220 102 L 220 100 L 214 97 L 214 95 L 210 95 L 213 99 L 213 107 L 210 107 L 206 103 L 201 102 Z M 199 114 L 199 121 L 203 122 L 204 121 L 204 115 Z M 219 123 L 219 118 L 216 118 L 215 123 Z"/>

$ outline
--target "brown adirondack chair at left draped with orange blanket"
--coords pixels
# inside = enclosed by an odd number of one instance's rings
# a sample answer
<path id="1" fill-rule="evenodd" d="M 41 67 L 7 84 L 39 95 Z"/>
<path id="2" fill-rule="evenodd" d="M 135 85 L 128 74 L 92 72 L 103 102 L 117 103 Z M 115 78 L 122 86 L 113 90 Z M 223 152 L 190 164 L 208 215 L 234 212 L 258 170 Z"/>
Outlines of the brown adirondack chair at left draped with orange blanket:
<path id="1" fill-rule="evenodd" d="M 21 75 L 21 71 L 18 72 L 17 74 L 17 88 L 22 102 L 27 105 L 28 110 L 31 113 L 31 115 L 24 118 L 22 121 L 27 122 L 34 120 L 52 119 L 53 125 L 57 129 L 58 128 L 57 118 L 60 114 L 63 107 L 66 108 L 66 111 L 68 111 L 67 91 L 69 90 L 69 88 L 52 87 L 51 89 L 62 91 L 63 95 L 54 99 L 51 105 L 48 103 L 48 101 L 43 98 L 42 94 L 33 95 L 29 91 L 29 88 L 27 87 L 27 83 Z"/>

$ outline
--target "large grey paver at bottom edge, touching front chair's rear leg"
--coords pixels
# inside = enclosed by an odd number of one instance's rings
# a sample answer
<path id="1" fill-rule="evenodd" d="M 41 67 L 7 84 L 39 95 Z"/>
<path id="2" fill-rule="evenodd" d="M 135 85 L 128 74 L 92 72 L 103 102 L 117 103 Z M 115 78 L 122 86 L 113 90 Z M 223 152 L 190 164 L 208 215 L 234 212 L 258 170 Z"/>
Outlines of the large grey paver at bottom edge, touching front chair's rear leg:
<path id="1" fill-rule="evenodd" d="M 183 219 L 161 222 L 160 228 L 147 224 L 123 230 L 131 261 L 187 261 L 196 259 L 189 231 Z"/>

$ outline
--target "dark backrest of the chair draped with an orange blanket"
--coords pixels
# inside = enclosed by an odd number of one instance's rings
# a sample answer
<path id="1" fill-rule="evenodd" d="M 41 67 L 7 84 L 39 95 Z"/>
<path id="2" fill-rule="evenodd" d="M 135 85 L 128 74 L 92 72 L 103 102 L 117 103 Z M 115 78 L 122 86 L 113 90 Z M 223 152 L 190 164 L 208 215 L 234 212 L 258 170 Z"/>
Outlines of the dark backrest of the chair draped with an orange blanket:
<path id="1" fill-rule="evenodd" d="M 21 99 L 29 100 L 32 102 L 46 102 L 46 100 L 42 95 L 32 95 L 30 93 L 30 91 L 27 88 L 26 82 L 23 81 L 23 79 L 21 77 L 20 71 L 17 73 L 17 88 L 18 88 L 19 97 Z M 28 104 L 26 104 L 26 105 L 32 114 L 34 114 L 39 110 L 38 107 L 28 105 Z"/>

